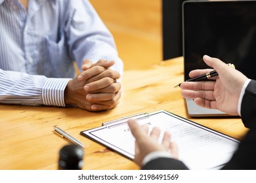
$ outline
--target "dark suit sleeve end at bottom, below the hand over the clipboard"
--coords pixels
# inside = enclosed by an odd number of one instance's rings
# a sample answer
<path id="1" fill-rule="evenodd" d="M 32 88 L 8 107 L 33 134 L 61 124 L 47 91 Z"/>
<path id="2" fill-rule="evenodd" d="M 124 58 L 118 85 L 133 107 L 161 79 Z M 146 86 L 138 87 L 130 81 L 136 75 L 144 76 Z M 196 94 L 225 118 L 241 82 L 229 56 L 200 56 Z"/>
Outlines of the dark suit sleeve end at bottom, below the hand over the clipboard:
<path id="1" fill-rule="evenodd" d="M 188 167 L 177 159 L 158 158 L 154 159 L 142 167 L 142 170 L 187 170 Z"/>

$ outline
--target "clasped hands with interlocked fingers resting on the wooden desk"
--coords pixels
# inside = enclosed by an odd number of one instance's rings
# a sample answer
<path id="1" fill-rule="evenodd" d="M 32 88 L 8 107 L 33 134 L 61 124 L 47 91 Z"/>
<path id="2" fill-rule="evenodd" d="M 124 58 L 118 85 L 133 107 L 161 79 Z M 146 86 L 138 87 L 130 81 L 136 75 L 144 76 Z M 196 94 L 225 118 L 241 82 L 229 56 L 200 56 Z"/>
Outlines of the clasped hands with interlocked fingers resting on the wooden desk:
<path id="1" fill-rule="evenodd" d="M 83 72 L 70 80 L 65 90 L 65 104 L 90 111 L 115 108 L 121 97 L 120 74 L 110 69 L 114 61 L 100 59 L 93 64 L 85 60 Z"/>

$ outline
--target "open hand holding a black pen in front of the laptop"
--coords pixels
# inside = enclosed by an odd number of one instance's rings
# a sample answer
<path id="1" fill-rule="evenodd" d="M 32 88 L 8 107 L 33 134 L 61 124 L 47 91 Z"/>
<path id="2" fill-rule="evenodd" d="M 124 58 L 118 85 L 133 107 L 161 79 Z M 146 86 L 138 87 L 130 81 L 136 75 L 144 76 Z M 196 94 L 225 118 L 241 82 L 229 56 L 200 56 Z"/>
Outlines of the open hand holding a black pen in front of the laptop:
<path id="1" fill-rule="evenodd" d="M 203 56 L 203 61 L 217 71 L 218 78 L 214 82 L 183 82 L 182 97 L 193 99 L 200 107 L 217 109 L 238 116 L 241 90 L 249 79 L 218 58 Z M 202 73 L 205 73 L 205 69 L 196 69 L 190 72 L 190 76 L 194 78 Z"/>

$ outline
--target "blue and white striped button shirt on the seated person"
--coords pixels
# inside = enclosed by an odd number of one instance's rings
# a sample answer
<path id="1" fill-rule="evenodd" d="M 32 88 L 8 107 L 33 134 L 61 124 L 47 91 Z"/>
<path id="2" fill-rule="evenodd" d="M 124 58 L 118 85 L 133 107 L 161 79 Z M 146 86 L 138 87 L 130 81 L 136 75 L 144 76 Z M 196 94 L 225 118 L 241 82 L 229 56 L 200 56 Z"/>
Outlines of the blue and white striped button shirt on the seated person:
<path id="1" fill-rule="evenodd" d="M 0 103 L 64 107 L 64 89 L 84 59 L 115 60 L 111 33 L 87 0 L 0 0 Z"/>

